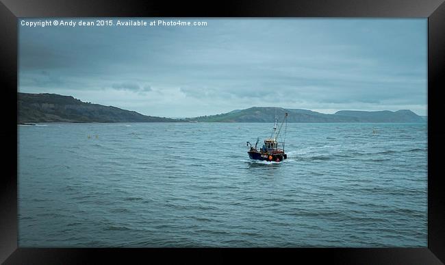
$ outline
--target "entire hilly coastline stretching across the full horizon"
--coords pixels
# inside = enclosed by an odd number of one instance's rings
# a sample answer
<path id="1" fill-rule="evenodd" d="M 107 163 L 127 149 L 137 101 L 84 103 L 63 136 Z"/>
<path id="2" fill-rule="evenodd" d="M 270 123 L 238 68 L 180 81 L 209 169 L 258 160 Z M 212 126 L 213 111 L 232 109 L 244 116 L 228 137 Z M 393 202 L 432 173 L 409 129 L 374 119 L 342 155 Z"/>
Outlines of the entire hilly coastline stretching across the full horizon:
<path id="1" fill-rule="evenodd" d="M 196 118 L 161 118 L 145 116 L 138 112 L 82 102 L 60 94 L 18 93 L 18 123 L 153 123 L 153 122 L 223 122 L 223 123 L 272 123 L 289 113 L 290 123 L 424 123 L 426 119 L 411 110 L 363 112 L 341 110 L 335 114 L 322 114 L 311 110 L 253 107 L 245 110 L 200 116 Z"/>

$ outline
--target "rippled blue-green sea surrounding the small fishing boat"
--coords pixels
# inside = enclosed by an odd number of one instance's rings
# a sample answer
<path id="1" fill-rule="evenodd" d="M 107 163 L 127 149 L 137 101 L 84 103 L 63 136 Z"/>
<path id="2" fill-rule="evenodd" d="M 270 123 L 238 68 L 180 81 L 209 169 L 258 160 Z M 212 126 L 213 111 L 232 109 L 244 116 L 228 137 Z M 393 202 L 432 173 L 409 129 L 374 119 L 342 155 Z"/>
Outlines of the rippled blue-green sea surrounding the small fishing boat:
<path id="1" fill-rule="evenodd" d="M 20 247 L 427 247 L 427 125 L 18 127 Z"/>

